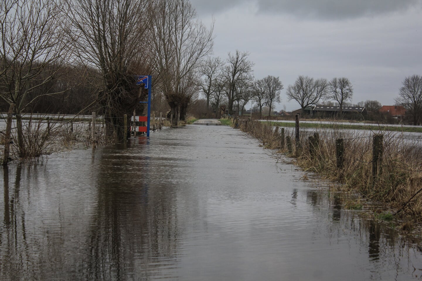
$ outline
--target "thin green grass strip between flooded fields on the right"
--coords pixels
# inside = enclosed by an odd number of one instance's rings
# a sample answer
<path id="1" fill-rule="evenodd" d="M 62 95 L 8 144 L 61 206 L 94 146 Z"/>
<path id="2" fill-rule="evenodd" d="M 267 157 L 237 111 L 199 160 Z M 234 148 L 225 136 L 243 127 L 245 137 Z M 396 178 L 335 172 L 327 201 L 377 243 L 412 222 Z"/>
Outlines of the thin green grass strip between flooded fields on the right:
<path id="1" fill-rule="evenodd" d="M 295 127 L 295 123 L 289 122 L 271 122 L 272 126 L 280 127 Z M 385 124 L 379 124 L 379 126 L 368 126 L 368 125 L 348 125 L 348 124 L 323 124 L 323 123 L 300 123 L 302 128 L 337 128 L 337 129 L 355 129 L 355 130 L 371 130 L 371 131 L 400 131 L 400 132 L 412 132 L 422 133 L 422 128 L 413 127 L 392 127 Z"/>

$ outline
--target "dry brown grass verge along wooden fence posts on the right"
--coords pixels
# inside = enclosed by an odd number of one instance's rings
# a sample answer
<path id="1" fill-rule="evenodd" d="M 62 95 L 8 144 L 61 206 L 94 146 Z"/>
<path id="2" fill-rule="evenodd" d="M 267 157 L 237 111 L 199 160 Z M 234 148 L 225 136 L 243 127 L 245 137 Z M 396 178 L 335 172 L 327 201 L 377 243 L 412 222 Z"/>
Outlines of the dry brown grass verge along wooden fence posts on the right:
<path id="1" fill-rule="evenodd" d="M 306 125 L 301 123 L 301 127 Z M 281 161 L 286 161 L 283 155 L 292 157 L 292 162 L 305 172 L 315 172 L 325 179 L 340 182 L 346 193 L 358 193 L 386 206 L 390 210 L 388 219 L 392 216 L 403 221 L 403 229 L 404 225 L 406 229 L 421 225 L 422 147 L 419 142 L 397 137 L 399 133 L 383 131 L 381 171 L 374 177 L 373 136 L 323 125 L 317 127 L 316 133 L 302 132 L 299 142 L 295 142 L 293 128 L 276 128 L 274 131 L 269 122 L 242 120 L 240 128 L 260 139 L 265 147 L 276 149 L 276 157 Z M 340 167 L 337 164 L 336 139 L 343 139 L 344 143 L 343 165 Z M 288 143 L 291 145 L 288 146 Z M 362 209 L 360 202 L 344 202 L 344 205 L 347 209 Z"/>

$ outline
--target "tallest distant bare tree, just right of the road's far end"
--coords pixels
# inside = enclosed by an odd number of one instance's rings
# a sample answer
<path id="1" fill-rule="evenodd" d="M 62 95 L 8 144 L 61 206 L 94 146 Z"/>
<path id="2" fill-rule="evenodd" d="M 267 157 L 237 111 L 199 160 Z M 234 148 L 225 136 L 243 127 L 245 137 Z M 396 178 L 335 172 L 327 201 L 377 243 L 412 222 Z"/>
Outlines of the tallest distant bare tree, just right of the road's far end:
<path id="1" fill-rule="evenodd" d="M 254 63 L 248 60 L 248 52 L 236 50 L 235 54 L 229 52 L 227 65 L 223 72 L 227 79 L 227 99 L 229 114 L 233 114 L 233 103 L 236 101 L 236 88 L 244 81 L 252 81 L 252 67 Z"/>

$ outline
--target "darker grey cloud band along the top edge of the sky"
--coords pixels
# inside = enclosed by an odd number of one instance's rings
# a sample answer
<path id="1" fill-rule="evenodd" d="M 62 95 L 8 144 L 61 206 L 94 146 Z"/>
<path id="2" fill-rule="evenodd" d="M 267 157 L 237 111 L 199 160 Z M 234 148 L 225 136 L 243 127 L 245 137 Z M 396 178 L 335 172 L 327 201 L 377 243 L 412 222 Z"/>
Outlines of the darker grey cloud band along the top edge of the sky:
<path id="1" fill-rule="evenodd" d="M 245 0 L 192 0 L 200 13 L 217 13 Z M 287 13 L 320 19 L 349 19 L 422 7 L 422 0 L 257 0 L 260 13 Z"/>

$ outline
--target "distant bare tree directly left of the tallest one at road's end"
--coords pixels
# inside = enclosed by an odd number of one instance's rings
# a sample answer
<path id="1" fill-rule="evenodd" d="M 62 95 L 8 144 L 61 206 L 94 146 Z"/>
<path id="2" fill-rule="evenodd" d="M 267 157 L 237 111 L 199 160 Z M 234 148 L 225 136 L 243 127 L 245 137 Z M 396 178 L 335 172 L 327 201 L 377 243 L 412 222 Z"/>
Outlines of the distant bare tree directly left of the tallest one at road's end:
<path id="1" fill-rule="evenodd" d="M 207 109 L 209 109 L 210 97 L 214 91 L 213 83 L 216 81 L 223 65 L 224 63 L 219 57 L 208 57 L 199 70 L 200 74 L 203 76 L 200 87 L 207 100 Z"/>

